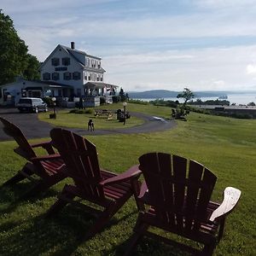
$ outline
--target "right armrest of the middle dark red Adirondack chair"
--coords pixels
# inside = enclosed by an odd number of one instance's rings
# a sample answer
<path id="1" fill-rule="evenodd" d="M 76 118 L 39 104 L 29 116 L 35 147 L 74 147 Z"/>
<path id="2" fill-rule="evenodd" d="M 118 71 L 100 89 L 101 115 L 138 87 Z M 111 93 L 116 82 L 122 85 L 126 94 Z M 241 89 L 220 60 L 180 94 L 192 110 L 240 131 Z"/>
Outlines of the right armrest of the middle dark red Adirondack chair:
<path id="1" fill-rule="evenodd" d="M 100 184 L 102 186 L 107 186 L 112 183 L 119 183 L 121 181 L 130 180 L 134 177 L 139 177 L 141 175 L 142 171 L 139 170 L 138 165 L 131 166 L 126 172 L 120 173 L 117 176 L 109 177 L 105 180 L 103 180 Z"/>

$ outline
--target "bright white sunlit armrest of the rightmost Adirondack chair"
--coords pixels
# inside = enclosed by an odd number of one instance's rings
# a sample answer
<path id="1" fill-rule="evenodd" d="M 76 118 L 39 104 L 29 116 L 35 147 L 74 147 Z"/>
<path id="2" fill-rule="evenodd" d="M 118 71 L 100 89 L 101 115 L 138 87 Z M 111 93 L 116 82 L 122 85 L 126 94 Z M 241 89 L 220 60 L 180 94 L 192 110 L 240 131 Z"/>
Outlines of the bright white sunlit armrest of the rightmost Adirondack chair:
<path id="1" fill-rule="evenodd" d="M 227 187 L 224 189 L 224 201 L 214 212 L 212 212 L 209 220 L 213 222 L 214 220 L 224 218 L 224 216 L 229 214 L 236 207 L 240 195 L 241 191 L 239 189 L 232 187 Z"/>

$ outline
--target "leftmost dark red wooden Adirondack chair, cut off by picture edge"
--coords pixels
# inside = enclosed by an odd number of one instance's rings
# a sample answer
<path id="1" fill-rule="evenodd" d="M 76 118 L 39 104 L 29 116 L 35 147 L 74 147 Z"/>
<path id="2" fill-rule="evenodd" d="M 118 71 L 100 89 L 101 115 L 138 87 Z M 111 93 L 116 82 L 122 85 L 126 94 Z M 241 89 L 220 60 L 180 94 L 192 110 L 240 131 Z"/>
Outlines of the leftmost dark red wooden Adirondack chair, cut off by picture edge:
<path id="1" fill-rule="evenodd" d="M 51 142 L 30 144 L 19 127 L 2 117 L 0 117 L 0 120 L 3 123 L 3 131 L 10 137 L 13 137 L 19 145 L 18 148 L 14 149 L 15 153 L 27 160 L 25 166 L 14 177 L 3 183 L 3 185 L 12 185 L 24 178 L 28 178 L 35 184 L 25 195 L 34 195 L 49 189 L 50 186 L 66 177 L 64 172 L 61 172 L 64 162 L 61 160 L 60 154 L 55 154 Z M 38 156 L 33 148 L 39 147 L 44 148 L 49 155 Z M 39 180 L 35 179 L 32 177 L 33 174 L 41 178 Z"/>

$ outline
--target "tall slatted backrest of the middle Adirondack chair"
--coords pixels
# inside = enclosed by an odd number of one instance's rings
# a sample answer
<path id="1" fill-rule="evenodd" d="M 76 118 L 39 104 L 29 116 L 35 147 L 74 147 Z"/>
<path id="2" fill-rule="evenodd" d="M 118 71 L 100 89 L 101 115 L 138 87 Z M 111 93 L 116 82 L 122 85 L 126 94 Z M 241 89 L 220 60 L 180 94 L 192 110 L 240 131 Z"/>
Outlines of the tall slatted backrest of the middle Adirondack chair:
<path id="1" fill-rule="evenodd" d="M 84 195 L 91 199 L 105 198 L 98 184 L 102 176 L 96 146 L 84 137 L 61 128 L 52 129 L 50 137 L 67 166 L 67 176 L 73 178 Z"/>

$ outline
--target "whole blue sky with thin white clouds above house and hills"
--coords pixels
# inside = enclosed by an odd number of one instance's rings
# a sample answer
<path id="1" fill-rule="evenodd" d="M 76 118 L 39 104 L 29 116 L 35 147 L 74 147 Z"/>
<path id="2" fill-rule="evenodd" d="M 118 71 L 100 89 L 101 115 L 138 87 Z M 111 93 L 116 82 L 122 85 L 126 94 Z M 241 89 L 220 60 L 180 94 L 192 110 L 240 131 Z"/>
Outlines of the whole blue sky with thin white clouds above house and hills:
<path id="1" fill-rule="evenodd" d="M 102 58 L 125 91 L 256 90 L 256 0 L 1 0 L 29 52 Z"/>

